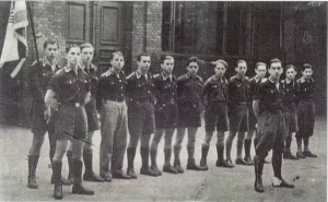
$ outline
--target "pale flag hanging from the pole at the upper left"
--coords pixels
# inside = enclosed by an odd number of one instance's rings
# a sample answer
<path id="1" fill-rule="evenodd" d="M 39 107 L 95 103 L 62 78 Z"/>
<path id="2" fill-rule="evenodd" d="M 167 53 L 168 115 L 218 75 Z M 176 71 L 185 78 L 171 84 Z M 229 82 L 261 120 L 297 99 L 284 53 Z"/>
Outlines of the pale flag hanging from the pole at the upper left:
<path id="1" fill-rule="evenodd" d="M 5 62 L 20 60 L 11 73 L 12 78 L 20 72 L 27 57 L 27 25 L 26 2 L 11 1 L 10 15 L 0 58 L 0 68 L 2 68 Z"/>

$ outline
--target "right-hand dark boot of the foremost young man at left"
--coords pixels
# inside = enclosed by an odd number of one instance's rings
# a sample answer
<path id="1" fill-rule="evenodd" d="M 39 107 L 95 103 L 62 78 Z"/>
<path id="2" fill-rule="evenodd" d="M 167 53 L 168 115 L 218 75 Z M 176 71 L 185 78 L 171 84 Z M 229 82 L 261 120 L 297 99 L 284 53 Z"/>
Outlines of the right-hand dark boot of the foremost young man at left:
<path id="1" fill-rule="evenodd" d="M 73 174 L 74 174 L 74 183 L 72 187 L 72 193 L 84 194 L 84 195 L 93 195 L 94 191 L 84 187 L 82 183 L 82 161 L 73 159 Z"/>

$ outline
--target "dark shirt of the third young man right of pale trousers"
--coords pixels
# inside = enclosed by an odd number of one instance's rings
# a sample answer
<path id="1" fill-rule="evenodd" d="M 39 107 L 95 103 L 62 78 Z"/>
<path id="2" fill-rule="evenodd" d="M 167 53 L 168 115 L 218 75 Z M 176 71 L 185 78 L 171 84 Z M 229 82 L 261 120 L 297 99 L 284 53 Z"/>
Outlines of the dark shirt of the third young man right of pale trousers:
<path id="1" fill-rule="evenodd" d="M 199 106 L 202 91 L 202 79 L 199 75 L 191 76 L 188 74 L 180 75 L 177 79 L 177 96 L 179 108 Z"/>

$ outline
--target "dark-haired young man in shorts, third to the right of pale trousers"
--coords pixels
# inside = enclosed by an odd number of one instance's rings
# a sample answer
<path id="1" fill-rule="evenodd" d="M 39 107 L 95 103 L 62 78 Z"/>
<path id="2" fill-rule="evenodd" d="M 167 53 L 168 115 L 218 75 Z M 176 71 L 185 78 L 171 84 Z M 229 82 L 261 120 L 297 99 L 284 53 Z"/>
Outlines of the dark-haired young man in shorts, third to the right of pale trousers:
<path id="1" fill-rule="evenodd" d="M 177 99 L 178 99 L 178 128 L 176 141 L 174 144 L 174 167 L 184 173 L 180 163 L 181 143 L 188 129 L 188 163 L 187 169 L 204 170 L 204 167 L 196 165 L 195 162 L 195 141 L 196 133 L 200 127 L 200 96 L 202 90 L 202 79 L 197 75 L 199 70 L 199 60 L 197 57 L 190 57 L 186 63 L 187 73 L 177 79 Z"/>

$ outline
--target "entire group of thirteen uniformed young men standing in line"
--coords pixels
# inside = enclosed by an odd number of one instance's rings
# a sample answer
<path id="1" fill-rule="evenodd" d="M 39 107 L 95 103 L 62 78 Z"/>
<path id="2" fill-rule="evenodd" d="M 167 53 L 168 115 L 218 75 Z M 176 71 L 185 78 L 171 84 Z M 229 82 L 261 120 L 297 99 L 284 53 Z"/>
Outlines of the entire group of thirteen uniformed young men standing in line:
<path id="1" fill-rule="evenodd" d="M 218 133 L 216 166 L 234 167 L 231 147 L 234 136 L 238 134 L 235 163 L 255 165 L 255 190 L 259 192 L 263 191 L 261 170 L 271 148 L 273 148 L 274 177 L 281 187 L 293 187 L 281 177 L 282 152 L 284 158 L 291 159 L 316 156 L 308 150 L 308 139 L 314 132 L 315 121 L 314 80 L 309 64 L 304 64 L 303 75 L 296 82 L 295 67 L 286 66 L 286 79 L 280 81 L 283 73 L 280 60 L 271 60 L 268 79 L 263 79 L 267 64 L 258 62 L 256 75 L 249 80 L 245 76 L 246 61 L 238 60 L 235 66 L 236 75 L 226 81 L 224 73 L 229 68 L 227 63 L 218 60 L 214 62 L 214 75 L 203 83 L 197 75 L 199 60 L 196 57 L 187 60 L 187 73 L 175 78 L 172 74 L 173 57 L 161 57 L 161 73 L 151 75 L 149 73 L 151 57 L 142 54 L 137 58 L 137 70 L 126 78 L 121 71 L 125 64 L 124 55 L 116 51 L 112 54 L 110 68 L 98 78 L 96 67 L 91 63 L 94 55 L 94 47 L 91 44 L 68 47 L 67 64 L 63 68 L 56 61 L 58 49 L 57 40 L 47 39 L 44 43 L 45 57 L 34 62 L 31 68 L 34 135 L 28 155 L 28 188 L 38 188 L 35 173 L 46 132 L 49 134 L 51 182 L 55 183 L 56 199 L 62 199 L 62 185 L 73 185 L 72 193 L 94 194 L 93 190 L 82 183 L 83 163 L 85 167 L 83 180 L 136 179 L 133 161 L 139 140 L 141 175 L 162 175 L 156 164 L 156 155 L 157 144 L 163 135 L 165 141 L 163 171 L 184 173 L 179 156 L 186 130 L 187 169 L 192 170 L 208 169 L 207 155 L 214 131 Z M 201 103 L 206 106 L 206 138 L 200 165 L 197 165 L 194 154 L 197 129 L 201 126 Z M 101 126 L 97 111 L 101 115 Z M 102 135 L 99 176 L 94 174 L 92 165 L 92 139 L 94 131 L 98 129 Z M 175 130 L 177 130 L 176 140 L 172 146 Z M 230 131 L 230 134 L 224 144 L 225 131 Z M 293 133 L 296 133 L 296 156 L 290 150 Z M 127 145 L 128 134 L 130 141 Z M 256 156 L 253 162 L 250 145 L 254 134 Z M 126 151 L 128 168 L 127 173 L 124 173 Z M 68 179 L 61 176 L 61 162 L 66 153 L 69 163 Z"/>

